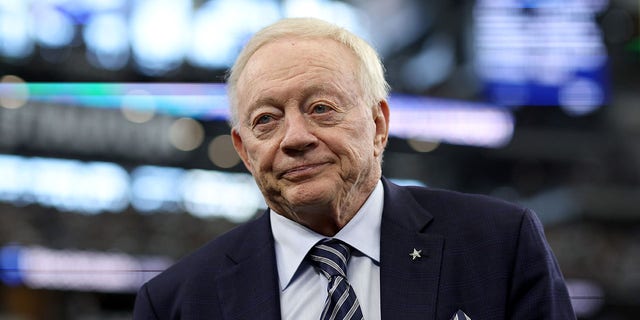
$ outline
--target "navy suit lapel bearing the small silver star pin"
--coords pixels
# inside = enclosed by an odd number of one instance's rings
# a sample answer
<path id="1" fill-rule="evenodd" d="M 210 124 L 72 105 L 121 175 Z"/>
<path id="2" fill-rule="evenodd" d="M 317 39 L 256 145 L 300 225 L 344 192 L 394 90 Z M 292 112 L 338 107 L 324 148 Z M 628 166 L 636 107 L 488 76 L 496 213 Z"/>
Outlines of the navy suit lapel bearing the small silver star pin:
<path id="1" fill-rule="evenodd" d="M 433 217 L 409 191 L 383 179 L 380 239 L 382 319 L 434 319 L 444 239 L 424 232 Z M 414 259 L 410 253 L 420 251 Z"/>

